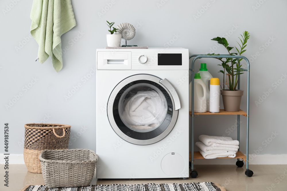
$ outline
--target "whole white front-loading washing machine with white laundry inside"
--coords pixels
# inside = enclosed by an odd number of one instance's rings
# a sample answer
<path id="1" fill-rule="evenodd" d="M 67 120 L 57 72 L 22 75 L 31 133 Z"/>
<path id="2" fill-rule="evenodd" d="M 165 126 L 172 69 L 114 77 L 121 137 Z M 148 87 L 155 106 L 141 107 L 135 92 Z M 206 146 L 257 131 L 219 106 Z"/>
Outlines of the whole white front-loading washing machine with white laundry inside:
<path id="1" fill-rule="evenodd" d="M 97 178 L 189 177 L 189 52 L 97 49 Z"/>

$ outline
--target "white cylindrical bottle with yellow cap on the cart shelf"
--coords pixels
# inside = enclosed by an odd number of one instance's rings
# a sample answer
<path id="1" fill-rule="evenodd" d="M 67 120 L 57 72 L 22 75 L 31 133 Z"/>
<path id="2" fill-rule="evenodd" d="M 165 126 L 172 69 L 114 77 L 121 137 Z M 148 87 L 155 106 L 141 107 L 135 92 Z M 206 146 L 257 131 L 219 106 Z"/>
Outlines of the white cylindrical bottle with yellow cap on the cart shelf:
<path id="1" fill-rule="evenodd" d="M 219 113 L 220 83 L 218 78 L 210 78 L 210 113 Z"/>

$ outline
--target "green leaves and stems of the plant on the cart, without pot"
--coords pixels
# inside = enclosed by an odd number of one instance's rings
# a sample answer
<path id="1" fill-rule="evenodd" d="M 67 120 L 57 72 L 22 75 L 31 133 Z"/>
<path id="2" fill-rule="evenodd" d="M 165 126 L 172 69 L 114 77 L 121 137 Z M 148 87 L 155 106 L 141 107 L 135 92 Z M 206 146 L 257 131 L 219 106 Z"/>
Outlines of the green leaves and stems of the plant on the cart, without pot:
<path id="1" fill-rule="evenodd" d="M 237 52 L 238 53 L 230 53 L 230 50 L 232 50 L 232 48 L 234 47 L 230 47 L 228 46 L 228 42 L 225 38 L 220 38 L 220 37 L 217 37 L 217 38 L 213 38 L 211 40 L 215 40 L 217 41 L 218 44 L 222 44 L 226 50 L 228 51 L 228 54 L 230 56 L 234 56 L 234 55 L 241 55 L 243 52 L 246 51 L 246 49 L 244 50 L 244 48 L 247 46 L 247 40 L 249 39 L 250 37 L 250 34 L 248 31 L 244 31 L 243 32 L 243 36 L 241 35 L 242 39 L 240 37 L 238 37 L 241 41 L 241 44 L 239 44 L 237 42 L 237 44 L 240 46 L 240 51 L 238 50 L 238 48 L 236 48 Z M 207 55 L 219 55 L 219 54 L 207 54 Z M 218 64 L 219 66 L 222 66 L 224 70 L 220 70 L 219 72 L 223 73 L 223 82 L 224 82 L 224 76 L 225 76 L 225 70 L 227 72 L 226 74 L 226 85 L 228 86 L 229 90 L 230 91 L 235 91 L 236 90 L 236 86 L 238 84 L 238 79 L 237 79 L 237 76 L 240 75 L 240 74 L 243 74 L 241 72 L 243 72 L 244 70 L 241 69 L 241 66 L 240 65 L 240 61 L 243 59 L 243 58 L 240 58 L 240 59 L 234 59 L 234 58 L 216 58 L 218 60 L 220 60 L 222 62 L 222 64 Z M 225 59 L 225 60 L 223 60 Z M 230 62 L 230 63 L 229 63 Z M 227 82 L 227 78 L 228 78 L 228 82 Z M 224 86 L 223 86 L 223 90 L 224 90 Z"/>

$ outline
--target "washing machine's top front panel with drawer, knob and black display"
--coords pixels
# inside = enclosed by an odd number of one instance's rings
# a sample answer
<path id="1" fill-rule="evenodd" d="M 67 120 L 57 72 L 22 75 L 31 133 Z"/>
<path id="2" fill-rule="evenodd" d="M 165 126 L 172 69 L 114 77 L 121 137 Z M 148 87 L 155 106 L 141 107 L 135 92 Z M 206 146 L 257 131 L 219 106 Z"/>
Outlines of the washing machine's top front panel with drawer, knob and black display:
<path id="1" fill-rule="evenodd" d="M 97 49 L 98 70 L 188 70 L 184 48 Z"/>

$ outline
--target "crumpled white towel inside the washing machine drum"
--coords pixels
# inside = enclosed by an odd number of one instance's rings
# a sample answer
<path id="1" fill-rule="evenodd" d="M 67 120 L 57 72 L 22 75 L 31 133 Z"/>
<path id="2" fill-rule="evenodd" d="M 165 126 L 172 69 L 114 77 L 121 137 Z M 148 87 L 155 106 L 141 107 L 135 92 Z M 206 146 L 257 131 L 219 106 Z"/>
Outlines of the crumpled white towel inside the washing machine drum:
<path id="1" fill-rule="evenodd" d="M 123 120 L 139 130 L 158 125 L 166 115 L 165 100 L 154 90 L 139 91 L 124 104 Z"/>

